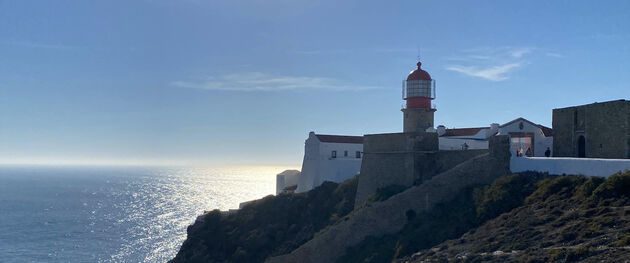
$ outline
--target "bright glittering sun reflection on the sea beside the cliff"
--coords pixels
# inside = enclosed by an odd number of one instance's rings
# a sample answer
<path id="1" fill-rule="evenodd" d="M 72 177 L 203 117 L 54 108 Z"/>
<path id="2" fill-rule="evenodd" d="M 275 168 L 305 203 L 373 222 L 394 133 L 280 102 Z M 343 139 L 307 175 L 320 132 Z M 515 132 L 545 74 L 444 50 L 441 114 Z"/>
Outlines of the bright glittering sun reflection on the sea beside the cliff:
<path id="1" fill-rule="evenodd" d="M 128 185 L 121 223 L 133 226 L 129 239 L 105 262 L 120 262 L 129 254 L 143 261 L 171 259 L 186 239 L 186 228 L 204 211 L 238 208 L 239 203 L 275 194 L 275 175 L 294 167 L 241 166 L 225 168 L 157 169 Z M 130 198 L 129 198 L 130 197 Z M 142 255 L 137 255 L 142 258 Z"/>

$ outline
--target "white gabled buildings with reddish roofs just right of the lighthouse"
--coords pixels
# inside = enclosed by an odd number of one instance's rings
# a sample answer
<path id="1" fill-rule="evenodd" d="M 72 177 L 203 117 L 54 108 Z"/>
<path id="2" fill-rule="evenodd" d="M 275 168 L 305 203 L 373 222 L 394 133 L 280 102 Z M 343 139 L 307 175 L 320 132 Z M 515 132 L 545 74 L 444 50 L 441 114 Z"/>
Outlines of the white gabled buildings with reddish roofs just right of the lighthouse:
<path id="1" fill-rule="evenodd" d="M 488 149 L 488 138 L 494 135 L 510 136 L 510 152 L 516 155 L 544 157 L 549 149 L 553 154 L 553 134 L 549 127 L 518 118 L 503 125 L 489 127 L 446 129 L 437 127 L 440 150 Z M 528 151 L 529 150 L 529 151 Z"/>

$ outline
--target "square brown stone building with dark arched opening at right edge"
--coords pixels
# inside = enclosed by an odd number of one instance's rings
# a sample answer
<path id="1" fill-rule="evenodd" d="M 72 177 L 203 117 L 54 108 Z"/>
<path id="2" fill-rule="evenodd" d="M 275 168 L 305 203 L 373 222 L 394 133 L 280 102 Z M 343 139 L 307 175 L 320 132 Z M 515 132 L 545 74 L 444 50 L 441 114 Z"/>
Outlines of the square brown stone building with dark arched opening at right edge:
<path id="1" fill-rule="evenodd" d="M 630 158 L 630 101 L 553 110 L 555 157 Z"/>

